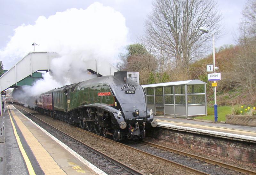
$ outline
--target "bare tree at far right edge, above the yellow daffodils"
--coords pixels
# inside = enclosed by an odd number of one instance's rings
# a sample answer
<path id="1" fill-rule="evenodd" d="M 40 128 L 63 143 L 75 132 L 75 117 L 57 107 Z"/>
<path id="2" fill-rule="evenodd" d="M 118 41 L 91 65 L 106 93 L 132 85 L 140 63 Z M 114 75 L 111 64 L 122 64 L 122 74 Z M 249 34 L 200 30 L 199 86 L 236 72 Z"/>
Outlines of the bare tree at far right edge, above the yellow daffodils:
<path id="1" fill-rule="evenodd" d="M 256 0 L 248 0 L 242 12 L 243 20 L 239 24 L 240 52 L 233 60 L 234 70 L 230 79 L 236 80 L 236 87 L 246 89 L 250 94 L 256 90 Z"/>

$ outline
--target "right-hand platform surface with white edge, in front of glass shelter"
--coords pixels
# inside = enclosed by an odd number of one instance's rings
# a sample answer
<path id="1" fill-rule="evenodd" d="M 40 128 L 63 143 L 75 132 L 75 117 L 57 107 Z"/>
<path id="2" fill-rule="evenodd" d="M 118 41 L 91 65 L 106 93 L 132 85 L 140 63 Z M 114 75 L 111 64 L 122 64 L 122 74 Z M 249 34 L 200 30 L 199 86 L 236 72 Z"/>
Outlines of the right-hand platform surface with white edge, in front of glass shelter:
<path id="1" fill-rule="evenodd" d="M 185 118 L 154 116 L 157 127 L 170 128 L 225 139 L 256 142 L 256 127 L 233 125 L 226 123 L 209 123 Z"/>

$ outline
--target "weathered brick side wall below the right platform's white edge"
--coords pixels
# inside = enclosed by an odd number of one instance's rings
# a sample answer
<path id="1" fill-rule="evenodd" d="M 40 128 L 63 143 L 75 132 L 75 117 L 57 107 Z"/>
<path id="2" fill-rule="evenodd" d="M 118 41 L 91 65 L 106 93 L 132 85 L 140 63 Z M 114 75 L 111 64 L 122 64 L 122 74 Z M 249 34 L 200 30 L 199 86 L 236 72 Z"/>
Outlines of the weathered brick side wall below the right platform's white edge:
<path id="1" fill-rule="evenodd" d="M 244 162 L 256 162 L 256 143 L 217 138 L 202 134 L 156 127 L 148 131 L 148 136 L 172 143 L 183 144 L 195 150 L 204 150 L 224 157 L 232 157 Z"/>

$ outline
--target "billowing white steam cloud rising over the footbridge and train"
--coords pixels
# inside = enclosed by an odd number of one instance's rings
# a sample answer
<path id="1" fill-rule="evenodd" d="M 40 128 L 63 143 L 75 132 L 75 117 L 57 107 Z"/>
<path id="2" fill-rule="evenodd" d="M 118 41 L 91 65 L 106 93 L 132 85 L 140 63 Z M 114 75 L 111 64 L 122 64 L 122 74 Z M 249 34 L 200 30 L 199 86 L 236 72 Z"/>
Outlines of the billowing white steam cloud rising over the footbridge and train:
<path id="1" fill-rule="evenodd" d="M 115 64 L 120 54 L 127 52 L 128 28 L 125 18 L 112 7 L 98 2 L 87 9 L 68 9 L 46 18 L 40 16 L 35 25 L 22 25 L 15 29 L 6 47 L 0 51 L 4 65 L 16 63 L 32 50 L 57 52 L 51 72 L 43 75 L 33 86 L 23 86 L 13 92 L 14 98 L 25 104 L 28 99 L 66 84 L 93 78 L 88 75 L 86 60 L 105 60 Z M 8 61 L 7 61 L 8 60 Z"/>

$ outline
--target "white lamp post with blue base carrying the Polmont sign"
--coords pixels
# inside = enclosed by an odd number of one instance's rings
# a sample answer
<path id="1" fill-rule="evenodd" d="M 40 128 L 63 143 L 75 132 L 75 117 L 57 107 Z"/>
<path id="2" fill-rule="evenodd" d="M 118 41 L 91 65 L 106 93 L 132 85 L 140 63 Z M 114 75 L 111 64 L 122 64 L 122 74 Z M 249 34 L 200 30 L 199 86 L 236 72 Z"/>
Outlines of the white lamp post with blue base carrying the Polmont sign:
<path id="1" fill-rule="evenodd" d="M 206 28 L 206 27 L 200 27 L 200 31 L 204 33 L 210 33 L 212 35 L 212 47 L 213 47 L 213 71 L 216 73 L 216 68 L 215 67 L 215 43 L 214 43 L 214 35 Z M 214 81 L 216 83 L 216 80 Z M 216 99 L 216 86 L 214 87 L 214 121 L 218 121 L 218 106 L 217 106 L 217 99 Z"/>

